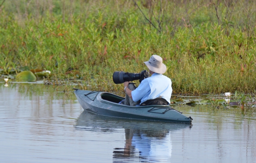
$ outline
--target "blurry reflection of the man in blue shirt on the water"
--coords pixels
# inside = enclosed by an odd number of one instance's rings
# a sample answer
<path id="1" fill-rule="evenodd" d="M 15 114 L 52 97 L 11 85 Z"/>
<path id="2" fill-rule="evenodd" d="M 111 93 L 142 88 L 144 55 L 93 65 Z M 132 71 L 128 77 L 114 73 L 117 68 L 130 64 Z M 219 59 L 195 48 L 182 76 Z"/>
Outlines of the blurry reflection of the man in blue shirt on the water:
<path id="1" fill-rule="evenodd" d="M 122 149 L 119 149 L 122 150 Z M 113 163 L 121 163 L 127 157 L 137 162 L 170 162 L 172 140 L 168 130 L 161 132 L 139 129 L 125 129 L 125 148 L 113 152 Z"/>

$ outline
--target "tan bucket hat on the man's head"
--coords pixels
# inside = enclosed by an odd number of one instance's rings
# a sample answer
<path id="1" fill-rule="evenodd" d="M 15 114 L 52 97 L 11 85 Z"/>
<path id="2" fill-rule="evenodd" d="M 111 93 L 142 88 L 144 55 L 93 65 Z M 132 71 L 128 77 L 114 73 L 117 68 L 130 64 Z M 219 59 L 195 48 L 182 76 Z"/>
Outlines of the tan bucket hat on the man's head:
<path id="1" fill-rule="evenodd" d="M 155 73 L 163 74 L 166 72 L 166 65 L 163 64 L 162 57 L 160 57 L 158 55 L 152 55 L 150 57 L 150 59 L 144 63 L 148 67 L 149 70 L 151 70 Z"/>

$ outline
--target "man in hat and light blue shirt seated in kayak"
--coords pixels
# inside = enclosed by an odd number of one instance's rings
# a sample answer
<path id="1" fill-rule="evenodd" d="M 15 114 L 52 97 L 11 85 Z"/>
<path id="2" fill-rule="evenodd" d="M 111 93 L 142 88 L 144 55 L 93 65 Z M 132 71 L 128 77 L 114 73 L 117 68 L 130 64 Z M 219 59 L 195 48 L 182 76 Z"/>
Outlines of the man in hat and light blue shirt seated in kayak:
<path id="1" fill-rule="evenodd" d="M 133 83 L 125 82 L 125 105 L 168 105 L 172 95 L 172 81 L 164 76 L 166 65 L 158 55 L 152 55 L 144 62 L 151 77 L 142 80 L 138 88 Z"/>

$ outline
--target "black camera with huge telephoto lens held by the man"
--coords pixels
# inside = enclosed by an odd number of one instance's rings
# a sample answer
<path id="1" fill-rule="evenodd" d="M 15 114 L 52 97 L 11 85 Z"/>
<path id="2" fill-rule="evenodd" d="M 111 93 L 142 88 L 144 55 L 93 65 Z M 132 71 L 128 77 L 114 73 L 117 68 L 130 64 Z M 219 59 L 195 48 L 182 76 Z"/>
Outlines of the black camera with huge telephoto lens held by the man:
<path id="1" fill-rule="evenodd" d="M 143 70 L 140 73 L 115 71 L 113 73 L 113 82 L 115 84 L 121 84 L 121 83 L 125 83 L 126 81 L 133 81 L 133 80 L 139 80 L 141 82 L 147 77 L 149 77 L 149 73 L 146 70 Z"/>

